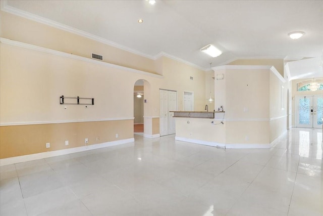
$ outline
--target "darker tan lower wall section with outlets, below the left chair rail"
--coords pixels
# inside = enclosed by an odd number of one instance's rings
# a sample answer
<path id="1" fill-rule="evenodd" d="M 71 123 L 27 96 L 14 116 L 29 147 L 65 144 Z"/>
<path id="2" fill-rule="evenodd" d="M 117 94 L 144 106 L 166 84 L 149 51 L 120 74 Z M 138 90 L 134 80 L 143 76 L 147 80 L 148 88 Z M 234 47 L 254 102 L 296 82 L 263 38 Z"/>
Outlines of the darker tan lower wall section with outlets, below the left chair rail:
<path id="1" fill-rule="evenodd" d="M 87 145 L 133 138 L 133 120 L 1 126 L 0 158 L 86 146 L 85 138 Z"/>

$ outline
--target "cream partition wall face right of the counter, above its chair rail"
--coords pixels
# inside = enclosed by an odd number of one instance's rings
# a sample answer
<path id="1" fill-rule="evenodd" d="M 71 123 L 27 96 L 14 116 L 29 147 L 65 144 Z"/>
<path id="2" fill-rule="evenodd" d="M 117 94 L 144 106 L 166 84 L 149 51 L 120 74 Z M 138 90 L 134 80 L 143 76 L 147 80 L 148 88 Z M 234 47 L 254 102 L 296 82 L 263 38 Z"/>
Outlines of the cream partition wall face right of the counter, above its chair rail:
<path id="1" fill-rule="evenodd" d="M 227 69 L 226 118 L 268 118 L 269 75 L 268 69 Z"/>

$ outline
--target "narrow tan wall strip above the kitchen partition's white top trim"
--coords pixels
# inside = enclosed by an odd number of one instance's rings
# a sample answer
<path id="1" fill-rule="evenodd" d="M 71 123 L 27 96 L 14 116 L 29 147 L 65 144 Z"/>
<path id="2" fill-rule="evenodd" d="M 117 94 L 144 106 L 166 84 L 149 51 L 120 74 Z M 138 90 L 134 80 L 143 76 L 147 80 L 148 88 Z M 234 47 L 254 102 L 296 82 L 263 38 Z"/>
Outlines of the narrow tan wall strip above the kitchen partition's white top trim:
<path id="1" fill-rule="evenodd" d="M 238 59 L 228 65 L 272 65 L 284 77 L 284 59 Z"/>

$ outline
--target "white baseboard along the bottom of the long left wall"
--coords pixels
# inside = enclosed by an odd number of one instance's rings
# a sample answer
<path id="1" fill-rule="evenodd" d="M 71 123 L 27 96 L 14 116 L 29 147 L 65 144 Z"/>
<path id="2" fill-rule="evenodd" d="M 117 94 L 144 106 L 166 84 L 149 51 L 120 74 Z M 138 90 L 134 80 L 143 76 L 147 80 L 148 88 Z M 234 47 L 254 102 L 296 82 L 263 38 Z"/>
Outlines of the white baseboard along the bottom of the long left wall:
<path id="1" fill-rule="evenodd" d="M 55 156 L 59 156 L 59 155 L 66 155 L 66 154 L 71 154 L 71 153 L 76 153 L 76 152 L 88 151 L 88 150 L 93 150 L 93 149 L 105 148 L 105 147 L 110 147 L 110 146 L 116 146 L 116 145 L 121 145 L 121 144 L 125 144 L 125 143 L 131 143 L 134 141 L 135 141 L 134 138 L 130 138 L 130 139 L 125 139 L 125 140 L 117 140 L 117 141 L 105 142 L 105 143 L 88 145 L 88 146 L 81 146 L 81 147 L 70 148 L 70 149 L 62 149 L 62 150 L 57 150 L 57 151 L 48 151 L 48 152 L 42 152 L 42 153 L 37 153 L 37 154 L 9 157 L 9 158 L 0 159 L 0 166 L 26 162 L 26 161 L 30 161 L 30 160 L 43 159 L 43 158 L 47 158 L 47 157 L 55 157 Z"/>

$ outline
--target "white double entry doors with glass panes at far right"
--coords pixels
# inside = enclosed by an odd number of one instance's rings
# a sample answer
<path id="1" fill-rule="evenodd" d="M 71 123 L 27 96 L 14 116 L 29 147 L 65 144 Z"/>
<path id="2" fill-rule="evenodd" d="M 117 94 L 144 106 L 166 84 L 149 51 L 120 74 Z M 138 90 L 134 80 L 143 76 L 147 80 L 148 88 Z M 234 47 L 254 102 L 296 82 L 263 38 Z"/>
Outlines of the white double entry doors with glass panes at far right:
<path id="1" fill-rule="evenodd" d="M 296 126 L 322 128 L 323 99 L 321 96 L 296 97 Z"/>

